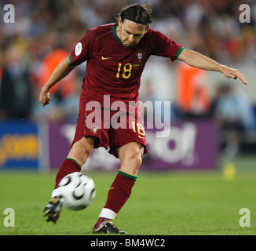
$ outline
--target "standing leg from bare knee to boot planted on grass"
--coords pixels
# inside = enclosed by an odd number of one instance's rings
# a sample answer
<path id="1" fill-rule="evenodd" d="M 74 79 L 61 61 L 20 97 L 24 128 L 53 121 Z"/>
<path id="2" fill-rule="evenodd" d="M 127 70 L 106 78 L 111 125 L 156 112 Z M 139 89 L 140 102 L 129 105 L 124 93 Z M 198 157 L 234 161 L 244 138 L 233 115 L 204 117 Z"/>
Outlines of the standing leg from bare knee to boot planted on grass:
<path id="1" fill-rule="evenodd" d="M 137 179 L 138 169 L 142 163 L 141 156 L 144 154 L 144 145 L 130 142 L 123 147 L 119 147 L 117 153 L 120 158 L 121 167 L 108 191 L 107 202 L 101 211 L 97 224 L 93 227 L 94 232 L 126 234 L 123 231 L 119 231 L 112 224 L 112 220 L 115 219 L 119 210 L 130 197 L 133 185 Z"/>

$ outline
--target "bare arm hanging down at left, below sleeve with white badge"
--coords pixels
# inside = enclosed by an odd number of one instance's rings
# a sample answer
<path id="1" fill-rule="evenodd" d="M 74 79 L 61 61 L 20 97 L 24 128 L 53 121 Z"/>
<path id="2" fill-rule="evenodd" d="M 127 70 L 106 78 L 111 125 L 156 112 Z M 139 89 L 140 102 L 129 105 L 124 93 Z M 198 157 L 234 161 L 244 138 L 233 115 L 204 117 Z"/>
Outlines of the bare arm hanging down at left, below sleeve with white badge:
<path id="1" fill-rule="evenodd" d="M 62 78 L 66 77 L 74 68 L 74 65 L 69 65 L 69 57 L 67 56 L 53 71 L 52 75 L 50 75 L 48 81 L 45 85 L 42 86 L 41 92 L 39 94 L 38 101 L 44 107 L 46 104 L 49 104 L 50 96 L 49 90 L 59 82 Z"/>

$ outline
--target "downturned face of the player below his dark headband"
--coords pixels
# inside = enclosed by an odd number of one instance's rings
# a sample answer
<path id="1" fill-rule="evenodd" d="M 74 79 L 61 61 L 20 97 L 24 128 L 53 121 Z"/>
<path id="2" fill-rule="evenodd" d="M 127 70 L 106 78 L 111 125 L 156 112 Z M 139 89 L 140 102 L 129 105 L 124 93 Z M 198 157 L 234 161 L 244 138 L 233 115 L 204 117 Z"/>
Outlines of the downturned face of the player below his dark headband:
<path id="1" fill-rule="evenodd" d="M 130 20 L 119 19 L 119 38 L 123 42 L 123 46 L 133 47 L 140 42 L 141 38 L 148 31 L 148 27 L 143 24 L 137 24 Z"/>

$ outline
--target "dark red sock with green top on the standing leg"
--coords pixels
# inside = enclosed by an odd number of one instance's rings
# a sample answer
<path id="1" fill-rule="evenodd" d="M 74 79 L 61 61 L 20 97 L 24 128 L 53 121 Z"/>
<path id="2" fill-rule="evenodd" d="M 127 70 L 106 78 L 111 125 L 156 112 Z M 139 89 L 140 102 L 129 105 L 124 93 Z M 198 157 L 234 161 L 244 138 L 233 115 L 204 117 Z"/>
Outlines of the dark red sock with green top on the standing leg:
<path id="1" fill-rule="evenodd" d="M 109 188 L 108 198 L 104 209 L 111 209 L 116 214 L 119 213 L 120 209 L 130 197 L 136 179 L 137 176 L 131 176 L 127 173 L 119 171 L 119 173 L 115 177 L 114 182 Z M 105 220 L 110 219 L 100 217 L 95 227 L 99 227 L 99 225 Z"/>

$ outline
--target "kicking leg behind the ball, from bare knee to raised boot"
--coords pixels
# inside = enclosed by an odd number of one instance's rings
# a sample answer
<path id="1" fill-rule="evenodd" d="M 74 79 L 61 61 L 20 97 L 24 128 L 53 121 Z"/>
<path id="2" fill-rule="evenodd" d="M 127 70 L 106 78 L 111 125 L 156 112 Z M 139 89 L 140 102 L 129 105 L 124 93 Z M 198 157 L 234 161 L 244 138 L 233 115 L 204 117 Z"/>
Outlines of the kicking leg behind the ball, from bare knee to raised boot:
<path id="1" fill-rule="evenodd" d="M 62 206 L 57 193 L 57 185 L 59 184 L 60 180 L 62 180 L 62 178 L 69 173 L 80 172 L 81 166 L 86 163 L 87 158 L 93 151 L 93 147 L 94 139 L 91 136 L 82 137 L 71 147 L 68 158 L 64 159 L 64 162 L 60 166 L 60 170 L 57 173 L 52 199 L 48 202 L 48 205 L 44 209 L 44 216 L 46 217 L 47 222 L 53 221 L 55 224 L 60 216 Z"/>

